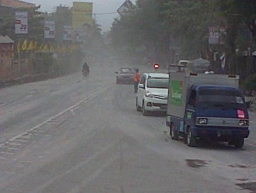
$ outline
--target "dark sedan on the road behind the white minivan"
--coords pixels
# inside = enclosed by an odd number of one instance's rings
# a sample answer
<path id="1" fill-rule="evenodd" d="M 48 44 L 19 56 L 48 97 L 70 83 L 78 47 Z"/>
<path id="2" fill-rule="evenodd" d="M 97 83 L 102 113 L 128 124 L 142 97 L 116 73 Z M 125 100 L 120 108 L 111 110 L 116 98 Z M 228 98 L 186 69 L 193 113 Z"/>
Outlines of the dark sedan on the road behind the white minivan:
<path id="1" fill-rule="evenodd" d="M 133 77 L 136 73 L 135 67 L 121 67 L 118 72 L 116 72 L 116 83 L 117 84 L 133 84 Z"/>

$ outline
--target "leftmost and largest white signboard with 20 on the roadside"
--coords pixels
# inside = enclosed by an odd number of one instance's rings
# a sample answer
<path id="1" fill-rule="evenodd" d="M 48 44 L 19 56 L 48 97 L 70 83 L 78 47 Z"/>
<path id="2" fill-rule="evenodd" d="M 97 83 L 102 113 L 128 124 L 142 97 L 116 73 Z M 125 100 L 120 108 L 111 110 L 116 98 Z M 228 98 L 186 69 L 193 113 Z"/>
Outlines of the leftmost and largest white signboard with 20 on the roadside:
<path id="1" fill-rule="evenodd" d="M 15 34 L 27 34 L 27 12 L 16 12 Z"/>

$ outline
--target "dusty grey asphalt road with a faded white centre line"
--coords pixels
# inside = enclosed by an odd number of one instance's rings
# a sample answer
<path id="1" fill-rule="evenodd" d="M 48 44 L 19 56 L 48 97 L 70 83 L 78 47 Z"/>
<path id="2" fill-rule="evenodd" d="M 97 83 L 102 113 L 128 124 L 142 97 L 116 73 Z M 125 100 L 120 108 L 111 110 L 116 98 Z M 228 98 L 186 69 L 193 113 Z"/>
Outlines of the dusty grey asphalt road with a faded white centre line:
<path id="1" fill-rule="evenodd" d="M 0 90 L 0 193 L 255 193 L 254 113 L 244 150 L 190 148 L 136 111 L 116 68 Z"/>

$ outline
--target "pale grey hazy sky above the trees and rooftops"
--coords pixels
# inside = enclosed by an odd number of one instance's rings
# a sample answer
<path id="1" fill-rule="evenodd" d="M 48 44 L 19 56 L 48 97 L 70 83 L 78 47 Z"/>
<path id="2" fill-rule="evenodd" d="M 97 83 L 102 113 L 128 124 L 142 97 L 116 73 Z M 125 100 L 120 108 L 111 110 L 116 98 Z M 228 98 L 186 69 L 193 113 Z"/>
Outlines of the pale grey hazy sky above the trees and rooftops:
<path id="1" fill-rule="evenodd" d="M 84 1 L 84 2 L 93 2 L 93 13 L 108 13 L 116 12 L 120 5 L 125 0 L 24 0 L 27 2 L 35 3 L 41 5 L 41 11 L 53 12 L 54 7 L 62 4 L 68 7 L 72 7 L 73 1 Z M 132 0 L 133 2 L 135 0 Z M 118 17 L 119 14 L 112 15 L 97 15 L 97 23 L 102 26 L 102 30 L 109 30 L 113 19 Z"/>

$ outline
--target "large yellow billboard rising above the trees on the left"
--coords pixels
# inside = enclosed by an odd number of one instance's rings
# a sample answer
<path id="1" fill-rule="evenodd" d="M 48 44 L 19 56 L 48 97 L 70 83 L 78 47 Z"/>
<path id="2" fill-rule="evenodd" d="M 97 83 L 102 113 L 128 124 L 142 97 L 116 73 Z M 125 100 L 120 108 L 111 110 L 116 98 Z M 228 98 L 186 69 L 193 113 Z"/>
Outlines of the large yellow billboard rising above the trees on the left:
<path id="1" fill-rule="evenodd" d="M 92 26 L 92 3 L 73 2 L 72 24 L 73 30 L 82 29 L 84 26 Z"/>

